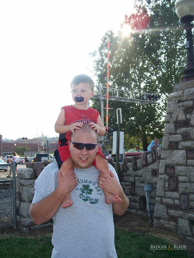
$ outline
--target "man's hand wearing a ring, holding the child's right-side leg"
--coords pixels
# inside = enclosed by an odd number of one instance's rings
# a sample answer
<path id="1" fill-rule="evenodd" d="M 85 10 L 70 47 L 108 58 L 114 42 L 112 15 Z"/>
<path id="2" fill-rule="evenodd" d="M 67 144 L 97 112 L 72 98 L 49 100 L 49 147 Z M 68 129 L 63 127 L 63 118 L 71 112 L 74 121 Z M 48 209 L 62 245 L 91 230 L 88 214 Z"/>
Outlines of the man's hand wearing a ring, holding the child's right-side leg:
<path id="1" fill-rule="evenodd" d="M 113 172 L 111 172 L 111 176 L 107 175 L 105 172 L 100 171 L 98 176 L 98 185 L 100 188 L 105 190 L 106 192 L 118 195 L 123 192 L 122 187 L 114 176 Z"/>

